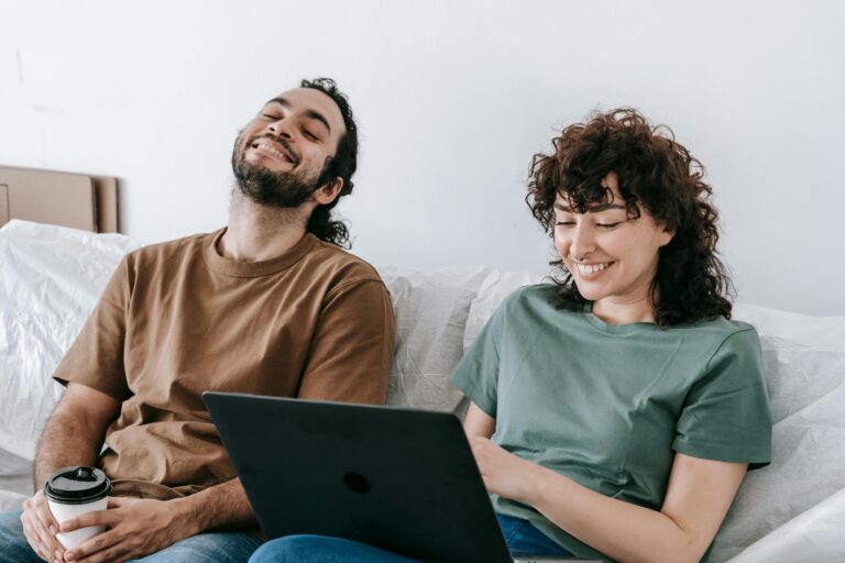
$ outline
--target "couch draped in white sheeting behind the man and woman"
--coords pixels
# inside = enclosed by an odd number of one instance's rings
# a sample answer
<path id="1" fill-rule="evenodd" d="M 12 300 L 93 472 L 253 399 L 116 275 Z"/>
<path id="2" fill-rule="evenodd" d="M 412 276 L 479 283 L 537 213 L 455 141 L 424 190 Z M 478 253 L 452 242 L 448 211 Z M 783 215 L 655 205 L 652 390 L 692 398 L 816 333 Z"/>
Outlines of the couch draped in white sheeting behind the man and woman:
<path id="1" fill-rule="evenodd" d="M 32 494 L 37 439 L 63 390 L 50 375 L 139 245 L 23 221 L 0 229 L 0 509 Z M 378 269 L 398 328 L 387 402 L 462 415 L 449 374 L 502 299 L 541 278 L 486 266 Z M 773 460 L 743 483 L 711 561 L 845 561 L 845 317 L 739 303 L 735 318 L 762 342 Z"/>

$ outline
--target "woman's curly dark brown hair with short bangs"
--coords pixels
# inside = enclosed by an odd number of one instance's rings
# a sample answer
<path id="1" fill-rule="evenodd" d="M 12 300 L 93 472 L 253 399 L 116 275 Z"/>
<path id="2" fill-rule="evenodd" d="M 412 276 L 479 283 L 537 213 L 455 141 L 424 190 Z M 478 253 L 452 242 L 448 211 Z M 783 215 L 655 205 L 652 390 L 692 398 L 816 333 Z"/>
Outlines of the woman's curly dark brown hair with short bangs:
<path id="1" fill-rule="evenodd" d="M 536 154 L 531 162 L 525 201 L 534 217 L 555 236 L 555 200 L 583 213 L 613 200 L 602 186 L 616 174 L 628 217 L 639 217 L 643 206 L 674 236 L 660 249 L 651 283 L 655 318 L 661 327 L 723 316 L 731 318 L 731 280 L 717 257 L 718 213 L 710 203 L 711 187 L 704 167 L 674 141 L 669 128 L 652 126 L 638 111 L 621 108 L 595 113 L 586 123 L 567 126 L 552 140 L 551 154 Z M 558 300 L 561 307 L 581 310 L 581 296 L 562 260 Z"/>

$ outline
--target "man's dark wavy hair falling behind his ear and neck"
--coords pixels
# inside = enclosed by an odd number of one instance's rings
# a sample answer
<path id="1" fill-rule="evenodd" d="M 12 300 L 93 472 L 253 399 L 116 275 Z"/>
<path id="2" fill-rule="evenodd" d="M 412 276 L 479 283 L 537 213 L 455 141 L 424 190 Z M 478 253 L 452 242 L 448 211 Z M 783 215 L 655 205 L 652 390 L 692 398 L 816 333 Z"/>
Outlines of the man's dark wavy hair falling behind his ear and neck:
<path id="1" fill-rule="evenodd" d="M 299 86 L 319 90 L 331 98 L 340 109 L 340 114 L 343 117 L 343 125 L 347 129 L 347 132 L 338 142 L 338 151 L 334 157 L 327 163 L 319 180 L 319 186 L 325 186 L 340 178 L 343 180 L 343 187 L 338 197 L 334 198 L 334 201 L 325 206 L 318 206 L 314 210 L 306 229 L 322 241 L 349 249 L 351 246 L 349 230 L 343 222 L 331 220 L 331 210 L 338 205 L 340 198 L 352 194 L 354 186 L 352 184 L 352 175 L 358 168 L 358 125 L 355 125 L 355 118 L 352 114 L 352 108 L 349 106 L 349 99 L 343 92 L 338 90 L 338 85 L 331 78 L 303 80 Z"/>

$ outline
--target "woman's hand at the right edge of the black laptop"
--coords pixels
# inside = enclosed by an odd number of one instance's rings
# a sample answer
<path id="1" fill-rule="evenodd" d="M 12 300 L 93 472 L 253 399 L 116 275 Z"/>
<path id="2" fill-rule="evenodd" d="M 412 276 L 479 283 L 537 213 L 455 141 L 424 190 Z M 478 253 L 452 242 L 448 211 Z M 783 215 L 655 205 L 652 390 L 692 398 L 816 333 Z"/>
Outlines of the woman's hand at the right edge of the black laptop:
<path id="1" fill-rule="evenodd" d="M 490 493 L 533 504 L 534 487 L 545 471 L 541 466 L 507 452 L 487 438 L 470 437 L 470 445 Z"/>

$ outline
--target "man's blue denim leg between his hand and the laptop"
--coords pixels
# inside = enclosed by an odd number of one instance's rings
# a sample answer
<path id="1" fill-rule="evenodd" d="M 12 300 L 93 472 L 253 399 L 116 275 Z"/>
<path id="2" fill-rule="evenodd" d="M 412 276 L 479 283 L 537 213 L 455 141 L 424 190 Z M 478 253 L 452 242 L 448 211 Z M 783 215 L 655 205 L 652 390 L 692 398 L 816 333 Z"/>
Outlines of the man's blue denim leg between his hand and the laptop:
<path id="1" fill-rule="evenodd" d="M 244 532 L 211 532 L 177 541 L 139 563 L 246 563 L 261 540 Z"/>

